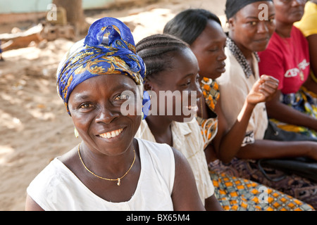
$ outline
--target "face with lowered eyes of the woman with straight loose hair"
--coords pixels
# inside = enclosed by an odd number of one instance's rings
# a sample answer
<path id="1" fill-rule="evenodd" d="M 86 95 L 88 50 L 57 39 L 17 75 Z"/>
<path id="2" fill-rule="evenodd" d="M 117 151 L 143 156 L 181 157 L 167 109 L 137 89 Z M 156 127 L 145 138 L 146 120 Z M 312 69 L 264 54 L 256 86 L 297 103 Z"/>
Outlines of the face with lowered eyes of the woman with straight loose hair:
<path id="1" fill-rule="evenodd" d="M 225 72 L 226 38 L 221 25 L 208 20 L 204 31 L 190 46 L 199 63 L 199 75 L 216 79 Z"/>

